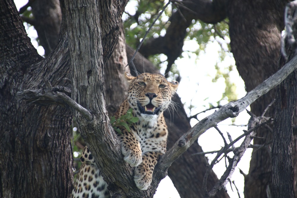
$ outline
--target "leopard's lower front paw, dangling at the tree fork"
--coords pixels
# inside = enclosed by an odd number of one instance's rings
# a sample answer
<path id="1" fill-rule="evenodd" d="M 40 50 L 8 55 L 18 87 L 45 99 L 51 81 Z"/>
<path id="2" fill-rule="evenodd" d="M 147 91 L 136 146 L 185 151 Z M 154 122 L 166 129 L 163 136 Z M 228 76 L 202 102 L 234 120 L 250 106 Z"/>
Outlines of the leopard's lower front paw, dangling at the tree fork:
<path id="1" fill-rule="evenodd" d="M 151 185 L 153 171 L 144 169 L 143 164 L 135 167 L 134 182 L 140 190 L 146 190 Z"/>

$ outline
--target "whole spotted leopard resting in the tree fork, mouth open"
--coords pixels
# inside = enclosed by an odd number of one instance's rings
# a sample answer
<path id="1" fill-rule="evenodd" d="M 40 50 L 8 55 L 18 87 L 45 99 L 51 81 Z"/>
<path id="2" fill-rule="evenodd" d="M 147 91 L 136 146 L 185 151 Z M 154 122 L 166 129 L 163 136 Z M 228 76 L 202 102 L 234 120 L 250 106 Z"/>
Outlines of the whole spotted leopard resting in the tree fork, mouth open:
<path id="1" fill-rule="evenodd" d="M 147 190 L 152 182 L 154 168 L 160 156 L 166 152 L 168 127 L 163 112 L 173 108 L 172 97 L 178 88 L 177 81 L 169 82 L 161 74 L 143 73 L 138 76 L 125 72 L 129 84 L 128 96 L 115 113 L 118 119 L 132 108 L 138 121 L 119 127 L 121 153 L 126 163 L 134 168 L 134 182 L 138 189 Z M 108 198 L 108 184 L 97 168 L 87 147 L 81 154 L 82 166 L 78 173 L 72 197 Z"/>

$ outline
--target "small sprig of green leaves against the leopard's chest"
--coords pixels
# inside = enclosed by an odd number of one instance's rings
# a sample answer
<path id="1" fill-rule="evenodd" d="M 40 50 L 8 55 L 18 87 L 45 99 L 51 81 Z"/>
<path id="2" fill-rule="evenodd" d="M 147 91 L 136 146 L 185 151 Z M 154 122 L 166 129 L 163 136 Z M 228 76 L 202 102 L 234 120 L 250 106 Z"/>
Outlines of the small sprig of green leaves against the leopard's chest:
<path id="1" fill-rule="evenodd" d="M 121 115 L 120 118 L 116 119 L 114 116 L 110 118 L 110 123 L 113 129 L 118 132 L 119 134 L 123 134 L 118 127 L 124 126 L 128 132 L 130 132 L 130 126 L 133 123 L 138 122 L 139 118 L 133 117 L 132 108 L 127 111 L 127 114 Z"/>

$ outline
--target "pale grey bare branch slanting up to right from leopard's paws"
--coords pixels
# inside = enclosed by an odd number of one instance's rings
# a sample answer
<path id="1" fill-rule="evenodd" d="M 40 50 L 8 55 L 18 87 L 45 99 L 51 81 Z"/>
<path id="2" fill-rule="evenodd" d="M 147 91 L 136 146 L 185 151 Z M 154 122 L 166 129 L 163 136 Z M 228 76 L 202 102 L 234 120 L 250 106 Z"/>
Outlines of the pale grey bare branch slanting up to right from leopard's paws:
<path id="1" fill-rule="evenodd" d="M 276 85 L 281 83 L 291 72 L 297 68 L 297 56 L 295 56 L 284 67 L 279 69 L 274 75 L 269 77 L 263 83 L 247 93 L 246 96 L 237 100 L 236 102 L 230 102 L 222 106 L 219 110 L 213 114 L 207 116 L 194 127 L 192 127 L 187 133 L 182 135 L 179 140 L 170 148 L 161 158 L 158 164 L 159 170 L 157 172 L 166 171 L 173 161 L 175 161 L 182 153 L 184 153 L 193 142 L 197 141 L 198 137 L 206 132 L 207 129 L 214 127 L 217 123 L 227 119 L 236 117 L 247 106 L 255 102 L 263 94 L 266 94 Z"/>

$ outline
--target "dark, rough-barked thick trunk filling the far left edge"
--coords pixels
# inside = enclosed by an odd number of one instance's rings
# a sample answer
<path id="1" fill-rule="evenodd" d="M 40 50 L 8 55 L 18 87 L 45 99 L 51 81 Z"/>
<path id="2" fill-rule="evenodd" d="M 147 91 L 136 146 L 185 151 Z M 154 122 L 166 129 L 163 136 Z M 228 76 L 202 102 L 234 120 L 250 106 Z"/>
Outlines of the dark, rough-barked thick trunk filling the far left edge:
<path id="1" fill-rule="evenodd" d="M 15 97 L 22 89 L 43 88 L 46 80 L 61 85 L 64 48 L 56 56 L 59 61 L 40 57 L 12 1 L 1 1 L 0 18 L 0 197 L 68 197 L 73 179 L 71 112 Z"/>

